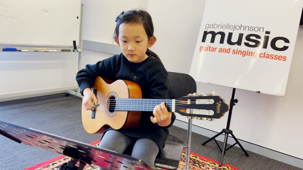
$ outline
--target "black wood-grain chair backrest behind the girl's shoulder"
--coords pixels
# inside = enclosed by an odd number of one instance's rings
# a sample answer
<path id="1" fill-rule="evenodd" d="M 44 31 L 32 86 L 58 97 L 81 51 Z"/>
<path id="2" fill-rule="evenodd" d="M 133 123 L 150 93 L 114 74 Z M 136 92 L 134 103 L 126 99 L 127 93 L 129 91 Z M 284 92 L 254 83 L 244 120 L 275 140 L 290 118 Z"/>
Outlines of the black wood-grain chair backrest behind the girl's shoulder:
<path id="1" fill-rule="evenodd" d="M 169 98 L 178 99 L 189 93 L 197 92 L 197 84 L 194 78 L 188 74 L 168 72 Z"/>

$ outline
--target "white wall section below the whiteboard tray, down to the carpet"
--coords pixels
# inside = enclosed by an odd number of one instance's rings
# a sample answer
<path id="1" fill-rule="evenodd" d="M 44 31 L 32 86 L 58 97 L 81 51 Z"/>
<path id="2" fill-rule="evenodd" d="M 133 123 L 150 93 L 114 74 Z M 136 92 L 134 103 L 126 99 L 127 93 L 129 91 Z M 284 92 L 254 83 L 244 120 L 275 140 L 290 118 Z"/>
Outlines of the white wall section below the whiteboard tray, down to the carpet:
<path id="1" fill-rule="evenodd" d="M 0 101 L 76 89 L 78 53 L 0 52 Z"/>

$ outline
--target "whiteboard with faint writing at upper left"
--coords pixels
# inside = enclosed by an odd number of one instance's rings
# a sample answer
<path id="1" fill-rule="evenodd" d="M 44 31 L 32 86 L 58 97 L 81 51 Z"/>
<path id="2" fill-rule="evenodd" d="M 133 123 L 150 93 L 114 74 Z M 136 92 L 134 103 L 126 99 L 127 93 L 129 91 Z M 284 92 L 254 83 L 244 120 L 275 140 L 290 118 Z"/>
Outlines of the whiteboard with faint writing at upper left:
<path id="1" fill-rule="evenodd" d="M 0 0 L 0 44 L 79 44 L 81 0 Z"/>

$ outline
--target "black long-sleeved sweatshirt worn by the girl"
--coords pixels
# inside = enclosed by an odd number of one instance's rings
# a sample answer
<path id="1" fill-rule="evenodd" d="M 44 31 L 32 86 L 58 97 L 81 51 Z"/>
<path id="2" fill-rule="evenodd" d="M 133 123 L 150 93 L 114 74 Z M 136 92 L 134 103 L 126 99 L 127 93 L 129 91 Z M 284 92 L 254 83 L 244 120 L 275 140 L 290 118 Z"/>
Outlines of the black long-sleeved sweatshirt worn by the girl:
<path id="1" fill-rule="evenodd" d="M 85 69 L 80 70 L 76 75 L 81 92 L 87 87 L 93 87 L 95 78 L 100 76 L 114 81 L 130 80 L 138 83 L 143 99 L 169 99 L 168 73 L 161 61 L 150 54 L 147 55 L 149 55 L 148 58 L 139 63 L 128 61 L 121 53 L 98 61 L 96 64 L 86 65 Z M 159 126 L 157 123 L 153 124 L 150 116 L 153 116 L 152 112 L 142 112 L 138 126 L 118 131 L 132 137 L 151 139 L 162 152 L 169 134 L 167 128 L 174 123 L 176 116 L 172 113 L 171 124 L 166 127 Z"/>

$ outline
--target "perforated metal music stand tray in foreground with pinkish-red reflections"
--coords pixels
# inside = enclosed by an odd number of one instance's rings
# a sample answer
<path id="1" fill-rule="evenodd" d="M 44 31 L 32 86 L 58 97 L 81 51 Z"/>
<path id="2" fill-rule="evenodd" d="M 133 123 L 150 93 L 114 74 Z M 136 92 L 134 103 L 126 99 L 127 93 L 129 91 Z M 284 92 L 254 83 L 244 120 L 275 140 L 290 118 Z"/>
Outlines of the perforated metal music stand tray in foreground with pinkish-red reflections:
<path id="1" fill-rule="evenodd" d="M 153 170 L 145 162 L 128 155 L 3 121 L 0 121 L 0 134 L 18 143 L 71 157 L 60 170 L 83 170 L 86 164 L 115 170 Z M 76 166 L 78 161 L 79 166 Z"/>

